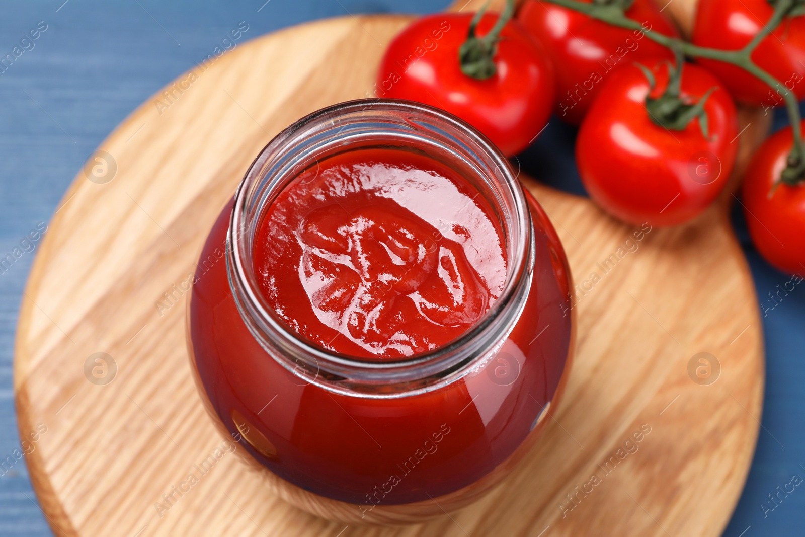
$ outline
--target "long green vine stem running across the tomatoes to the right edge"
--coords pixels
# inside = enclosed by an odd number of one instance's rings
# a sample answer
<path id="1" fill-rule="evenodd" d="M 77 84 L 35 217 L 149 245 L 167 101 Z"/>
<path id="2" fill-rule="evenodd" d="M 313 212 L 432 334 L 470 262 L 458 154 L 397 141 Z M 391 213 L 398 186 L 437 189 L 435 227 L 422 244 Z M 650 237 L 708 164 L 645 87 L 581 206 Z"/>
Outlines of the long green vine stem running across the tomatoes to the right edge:
<path id="1" fill-rule="evenodd" d="M 774 4 L 774 14 L 769 22 L 759 31 L 744 48 L 737 51 L 723 51 L 717 48 L 699 47 L 692 43 L 687 43 L 683 39 L 669 37 L 653 30 L 647 30 L 634 19 L 629 19 L 623 10 L 615 6 L 602 6 L 595 3 L 579 2 L 578 0 L 547 0 L 557 6 L 563 6 L 569 10 L 578 11 L 609 23 L 613 26 L 626 28 L 629 30 L 641 31 L 643 35 L 655 43 L 659 43 L 671 50 L 682 52 L 685 56 L 693 58 L 707 58 L 708 60 L 718 60 L 727 64 L 733 64 L 744 69 L 753 76 L 757 76 L 772 89 L 782 89 L 782 98 L 786 101 L 788 119 L 791 122 L 791 131 L 794 134 L 794 147 L 788 157 L 788 167 L 782 171 L 780 180 L 786 184 L 799 184 L 805 180 L 805 146 L 803 146 L 802 127 L 800 125 L 799 102 L 795 94 L 785 88 L 780 81 L 768 72 L 758 67 L 752 60 L 752 52 L 767 35 L 770 35 L 774 28 L 782 22 L 782 19 L 789 14 L 797 5 L 797 0 L 778 0 Z"/>

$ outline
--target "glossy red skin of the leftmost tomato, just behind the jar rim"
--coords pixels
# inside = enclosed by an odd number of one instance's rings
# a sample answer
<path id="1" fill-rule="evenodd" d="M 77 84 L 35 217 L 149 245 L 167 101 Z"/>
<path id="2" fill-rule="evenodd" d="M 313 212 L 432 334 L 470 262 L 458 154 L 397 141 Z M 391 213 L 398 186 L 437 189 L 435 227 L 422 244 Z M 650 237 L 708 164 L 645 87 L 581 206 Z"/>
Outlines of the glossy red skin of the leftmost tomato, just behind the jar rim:
<path id="1" fill-rule="evenodd" d="M 510 21 L 494 56 L 497 72 L 479 81 L 461 72 L 459 48 L 473 14 L 435 14 L 411 23 L 386 49 L 376 97 L 407 99 L 447 110 L 485 134 L 506 155 L 525 149 L 554 105 L 553 66 L 533 38 Z M 486 35 L 497 14 L 485 14 Z"/>

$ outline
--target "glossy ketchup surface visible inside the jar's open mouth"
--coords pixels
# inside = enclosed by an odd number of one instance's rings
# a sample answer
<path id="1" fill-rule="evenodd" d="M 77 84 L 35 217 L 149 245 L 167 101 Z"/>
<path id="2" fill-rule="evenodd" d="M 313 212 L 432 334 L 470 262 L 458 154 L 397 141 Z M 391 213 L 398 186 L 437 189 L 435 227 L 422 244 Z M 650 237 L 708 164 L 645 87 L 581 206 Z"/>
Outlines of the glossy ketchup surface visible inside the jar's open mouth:
<path id="1" fill-rule="evenodd" d="M 258 285 L 300 336 L 355 357 L 401 357 L 459 337 L 506 279 L 502 230 L 452 168 L 394 149 L 335 155 L 270 205 Z"/>

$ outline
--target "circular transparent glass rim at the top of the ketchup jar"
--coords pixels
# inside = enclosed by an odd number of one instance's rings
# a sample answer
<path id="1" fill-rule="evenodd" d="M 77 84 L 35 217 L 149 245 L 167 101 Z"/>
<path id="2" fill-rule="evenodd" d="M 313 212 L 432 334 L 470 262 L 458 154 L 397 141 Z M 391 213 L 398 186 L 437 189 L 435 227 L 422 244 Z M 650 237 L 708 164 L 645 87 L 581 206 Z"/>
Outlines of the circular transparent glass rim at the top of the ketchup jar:
<path id="1" fill-rule="evenodd" d="M 340 124 L 341 118 L 384 113 L 404 114 L 409 121 L 417 118 L 434 123 L 442 130 L 460 135 L 464 143 L 475 147 L 488 158 L 497 176 L 483 176 L 482 180 L 487 183 L 497 181 L 498 186 L 505 188 L 511 196 L 514 233 L 505 233 L 506 280 L 502 292 L 481 319 L 460 337 L 436 349 L 410 357 L 378 360 L 325 349 L 297 333 L 276 314 L 267 304 L 254 275 L 254 260 L 249 244 L 252 235 L 247 226 L 250 224 L 248 211 L 257 210 L 256 217 L 259 218 L 266 209 L 255 209 L 255 188 L 273 187 L 279 193 L 288 184 L 282 180 L 277 180 L 276 184 L 261 184 L 267 179 L 266 170 L 270 171 L 272 159 L 278 160 L 282 151 L 287 151 L 299 140 Z M 262 196 L 265 195 L 266 192 L 262 192 Z M 227 231 L 226 258 L 229 286 L 237 309 L 252 335 L 270 356 L 306 381 L 338 393 L 353 394 L 357 391 L 364 395 L 387 397 L 443 386 L 455 380 L 456 375 L 466 374 L 475 366 L 485 363 L 484 355 L 491 357 L 496 349 L 493 349 L 493 341 L 490 340 L 498 340 L 502 344 L 524 308 L 530 287 L 530 278 L 526 276 L 530 275 L 530 267 L 533 266 L 534 238 L 526 197 L 508 159 L 473 126 L 444 110 L 413 101 L 360 99 L 316 110 L 282 130 L 263 147 L 235 193 Z M 501 319 L 502 312 L 506 310 L 510 315 Z M 494 322 L 496 320 L 497 323 Z M 507 322 L 502 323 L 503 320 Z M 489 337 L 490 332 L 494 337 Z M 479 345 L 484 341 L 486 345 Z M 474 352 L 462 353 L 462 350 Z"/>

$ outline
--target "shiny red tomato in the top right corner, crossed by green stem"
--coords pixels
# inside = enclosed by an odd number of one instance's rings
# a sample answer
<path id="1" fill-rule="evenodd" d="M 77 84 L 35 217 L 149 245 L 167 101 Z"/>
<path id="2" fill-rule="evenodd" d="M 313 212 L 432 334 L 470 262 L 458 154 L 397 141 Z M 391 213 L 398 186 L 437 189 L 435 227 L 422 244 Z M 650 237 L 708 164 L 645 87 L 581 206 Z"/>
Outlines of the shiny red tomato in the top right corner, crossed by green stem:
<path id="1" fill-rule="evenodd" d="M 702 47 L 739 50 L 763 29 L 773 13 L 766 0 L 701 0 L 692 41 Z M 805 17 L 784 19 L 772 35 L 758 44 L 752 60 L 798 99 L 805 98 Z M 716 60 L 702 59 L 699 63 L 724 81 L 735 100 L 742 104 L 764 107 L 783 104 L 779 93 L 741 68 Z"/>

